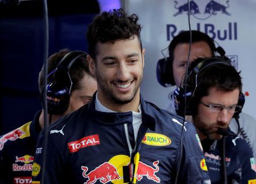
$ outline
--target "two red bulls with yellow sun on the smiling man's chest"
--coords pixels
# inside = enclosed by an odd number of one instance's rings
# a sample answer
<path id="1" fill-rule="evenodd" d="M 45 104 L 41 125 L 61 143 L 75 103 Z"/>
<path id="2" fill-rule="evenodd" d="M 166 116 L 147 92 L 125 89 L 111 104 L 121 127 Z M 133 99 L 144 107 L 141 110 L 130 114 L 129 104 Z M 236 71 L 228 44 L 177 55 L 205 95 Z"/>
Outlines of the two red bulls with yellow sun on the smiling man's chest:
<path id="1" fill-rule="evenodd" d="M 137 178 L 138 181 L 141 181 L 142 179 L 150 179 L 156 183 L 160 183 L 160 178 L 156 176 L 156 173 L 159 171 L 158 164 L 159 161 L 154 161 L 152 166 L 150 166 L 139 161 L 137 173 L 134 174 L 134 177 Z M 123 166 L 127 165 L 131 165 L 130 157 L 126 155 L 117 155 L 112 157 L 108 162 L 104 162 L 90 171 L 88 166 L 81 166 L 82 176 L 87 179 L 85 184 L 93 184 L 96 182 L 121 184 L 125 183 L 123 182 Z M 130 173 L 130 181 L 132 175 L 133 174 Z"/>

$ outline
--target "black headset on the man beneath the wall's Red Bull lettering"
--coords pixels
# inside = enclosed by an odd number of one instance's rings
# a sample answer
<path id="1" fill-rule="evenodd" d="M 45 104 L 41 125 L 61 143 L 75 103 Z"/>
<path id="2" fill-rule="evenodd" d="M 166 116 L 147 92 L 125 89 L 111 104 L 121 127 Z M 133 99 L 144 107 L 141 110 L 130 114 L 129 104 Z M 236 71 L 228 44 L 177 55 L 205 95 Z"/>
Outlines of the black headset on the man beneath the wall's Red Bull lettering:
<path id="1" fill-rule="evenodd" d="M 202 35 L 205 35 L 205 33 L 201 33 Z M 208 37 L 207 35 L 204 36 L 205 40 L 199 40 L 203 42 L 207 42 L 208 45 L 210 43 L 210 49 L 213 49 L 214 54 L 216 55 L 221 55 L 222 57 L 225 57 L 225 50 L 218 45 L 217 48 L 214 45 L 214 41 L 212 38 Z M 195 41 L 195 42 L 199 42 Z M 180 42 L 180 44 L 186 43 L 189 44 L 189 42 Z M 167 49 L 167 48 L 166 48 Z M 164 57 L 162 59 L 159 59 L 158 63 L 156 64 L 156 78 L 158 79 L 159 84 L 161 84 L 163 87 L 170 87 L 172 85 L 175 85 L 174 81 L 174 74 L 173 74 L 173 69 L 172 69 L 172 61 L 173 58 L 171 59 L 170 57 Z"/>

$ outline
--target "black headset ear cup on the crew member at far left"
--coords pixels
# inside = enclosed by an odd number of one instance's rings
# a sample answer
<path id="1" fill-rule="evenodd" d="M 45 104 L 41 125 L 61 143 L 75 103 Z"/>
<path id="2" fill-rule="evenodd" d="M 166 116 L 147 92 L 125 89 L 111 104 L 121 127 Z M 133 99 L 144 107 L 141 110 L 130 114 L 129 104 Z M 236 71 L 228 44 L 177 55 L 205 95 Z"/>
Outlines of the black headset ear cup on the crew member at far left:
<path id="1" fill-rule="evenodd" d="M 47 90 L 47 108 L 49 114 L 63 114 L 69 106 L 69 89 L 49 83 Z M 44 103 L 43 103 L 44 104 Z"/>

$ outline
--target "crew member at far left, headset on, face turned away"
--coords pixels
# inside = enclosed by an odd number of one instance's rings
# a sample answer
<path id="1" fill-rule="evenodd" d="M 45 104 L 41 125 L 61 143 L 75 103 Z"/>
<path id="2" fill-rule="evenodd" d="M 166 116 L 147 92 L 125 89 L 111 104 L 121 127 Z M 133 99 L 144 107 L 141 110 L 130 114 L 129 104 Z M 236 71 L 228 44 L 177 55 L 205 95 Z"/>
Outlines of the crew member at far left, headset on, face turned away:
<path id="1" fill-rule="evenodd" d="M 48 59 L 47 106 L 49 123 L 79 109 L 92 100 L 97 90 L 90 74 L 86 53 L 61 49 Z M 44 72 L 39 72 L 39 92 L 43 93 Z M 44 110 L 32 121 L 0 137 L 0 183 L 31 183 L 36 140 L 44 128 Z M 62 132 L 61 130 L 56 130 Z M 42 149 L 36 149 L 42 152 Z"/>

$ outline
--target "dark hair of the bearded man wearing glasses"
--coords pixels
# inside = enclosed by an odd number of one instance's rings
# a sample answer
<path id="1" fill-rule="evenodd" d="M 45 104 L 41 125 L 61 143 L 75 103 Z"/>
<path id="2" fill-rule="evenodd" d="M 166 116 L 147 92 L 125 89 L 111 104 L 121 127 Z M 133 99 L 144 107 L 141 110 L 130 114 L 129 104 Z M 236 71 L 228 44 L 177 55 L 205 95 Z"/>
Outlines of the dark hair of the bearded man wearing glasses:
<path id="1" fill-rule="evenodd" d="M 226 57 L 210 58 L 217 58 L 216 61 L 220 58 L 220 60 L 225 60 L 230 63 L 230 60 Z M 189 72 L 205 59 L 208 58 L 195 59 L 189 67 Z M 195 84 L 196 82 L 197 87 Z M 196 106 L 199 104 L 202 97 L 209 95 L 209 89 L 212 87 L 216 87 L 218 90 L 226 92 L 233 91 L 238 88 L 240 93 L 242 92 L 242 78 L 240 76 L 240 71 L 238 72 L 231 64 L 225 65 L 224 63 L 217 63 L 209 65 L 199 72 L 197 75 L 197 81 L 196 73 L 192 72 L 192 74 L 188 76 L 187 84 L 191 87 L 192 92 L 196 88 L 193 96 L 193 105 Z"/>

